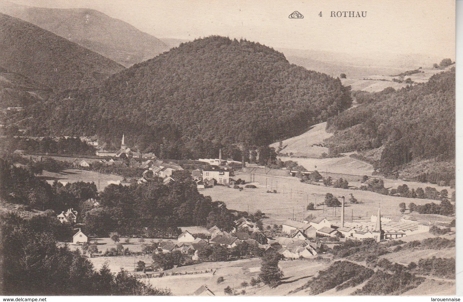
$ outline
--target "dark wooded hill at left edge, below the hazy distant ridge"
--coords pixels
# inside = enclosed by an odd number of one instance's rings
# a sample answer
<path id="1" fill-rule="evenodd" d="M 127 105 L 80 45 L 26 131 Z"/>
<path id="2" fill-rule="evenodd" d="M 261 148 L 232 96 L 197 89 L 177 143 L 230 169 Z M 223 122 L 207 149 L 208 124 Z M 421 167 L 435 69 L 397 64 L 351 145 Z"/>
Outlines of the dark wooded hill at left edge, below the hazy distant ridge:
<path id="1" fill-rule="evenodd" d="M 123 70 L 106 57 L 0 13 L 0 66 L 52 90 L 75 89 Z"/>

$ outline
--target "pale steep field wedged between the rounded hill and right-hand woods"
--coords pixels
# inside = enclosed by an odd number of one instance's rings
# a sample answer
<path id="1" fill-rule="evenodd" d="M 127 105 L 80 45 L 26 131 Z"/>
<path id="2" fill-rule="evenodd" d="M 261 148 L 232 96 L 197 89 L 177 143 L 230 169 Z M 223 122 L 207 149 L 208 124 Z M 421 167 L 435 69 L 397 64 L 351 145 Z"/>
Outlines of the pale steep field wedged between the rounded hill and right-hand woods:
<path id="1" fill-rule="evenodd" d="M 313 144 L 319 144 L 324 139 L 333 136 L 333 133 L 325 131 L 326 122 L 312 126 L 307 132 L 293 138 L 288 138 L 282 141 L 283 149 L 282 153 L 294 153 L 293 156 L 300 157 L 314 157 L 320 158 L 323 152 L 328 153 L 328 148 L 313 146 Z M 270 147 L 278 149 L 279 143 L 273 143 Z"/>

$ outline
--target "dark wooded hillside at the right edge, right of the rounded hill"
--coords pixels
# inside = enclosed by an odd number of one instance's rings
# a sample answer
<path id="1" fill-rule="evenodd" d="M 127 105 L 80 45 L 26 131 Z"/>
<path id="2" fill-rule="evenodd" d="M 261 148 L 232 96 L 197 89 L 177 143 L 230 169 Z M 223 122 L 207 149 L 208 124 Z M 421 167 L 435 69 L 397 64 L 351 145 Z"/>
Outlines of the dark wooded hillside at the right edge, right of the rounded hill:
<path id="1" fill-rule="evenodd" d="M 398 91 L 386 88 L 365 93 L 362 101 L 360 106 L 328 119 L 328 129 L 335 132 L 328 139 L 332 151 L 383 147 L 377 164 L 386 174 L 412 161 L 434 159 L 449 163 L 450 168 L 436 164 L 441 171 L 435 172 L 454 177 L 451 166 L 455 163 L 455 68 L 432 76 L 429 82 Z"/>

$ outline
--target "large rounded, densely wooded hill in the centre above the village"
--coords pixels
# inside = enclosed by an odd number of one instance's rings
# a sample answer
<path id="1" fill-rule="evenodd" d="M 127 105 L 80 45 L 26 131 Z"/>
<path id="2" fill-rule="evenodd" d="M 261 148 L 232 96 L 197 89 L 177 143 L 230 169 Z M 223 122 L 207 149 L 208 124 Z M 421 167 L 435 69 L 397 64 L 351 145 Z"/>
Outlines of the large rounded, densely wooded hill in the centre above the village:
<path id="1" fill-rule="evenodd" d="M 339 79 L 289 64 L 262 44 L 212 36 L 136 64 L 99 91 L 57 101 L 38 123 L 114 141 L 124 132 L 142 150 L 193 158 L 219 145 L 298 135 L 350 104 Z"/>

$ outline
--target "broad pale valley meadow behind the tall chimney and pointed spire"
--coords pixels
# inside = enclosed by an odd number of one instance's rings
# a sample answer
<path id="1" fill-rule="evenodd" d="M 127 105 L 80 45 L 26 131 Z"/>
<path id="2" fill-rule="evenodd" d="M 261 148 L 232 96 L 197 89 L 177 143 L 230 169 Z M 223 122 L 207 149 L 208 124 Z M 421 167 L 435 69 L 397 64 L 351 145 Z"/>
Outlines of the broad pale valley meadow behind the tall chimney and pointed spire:
<path id="1" fill-rule="evenodd" d="M 250 181 L 249 174 L 237 173 L 235 178 L 242 178 L 246 182 Z M 296 177 L 291 176 L 269 176 L 254 175 L 254 184 L 257 189 L 237 189 L 215 186 L 210 189 L 201 191 L 203 195 L 209 195 L 213 201 L 223 201 L 227 208 L 240 211 L 249 211 L 251 213 L 261 210 L 269 216 L 264 220 L 264 224 L 281 223 L 288 218 L 301 220 L 308 214 L 316 216 L 325 216 L 328 219 L 339 219 L 340 208 L 317 207 L 314 211 L 306 211 L 308 202 L 315 205 L 321 203 L 326 193 L 332 193 L 335 196 L 345 196 L 353 194 L 360 204 L 347 203 L 345 214 L 347 220 L 351 217 L 354 219 L 369 219 L 372 214 L 376 214 L 378 206 L 381 206 L 381 213 L 386 217 L 399 218 L 403 214 L 399 211 L 399 203 L 405 202 L 407 205 L 414 202 L 417 205 L 432 202 L 427 199 L 394 197 L 380 195 L 370 191 L 338 189 L 325 186 L 317 186 L 302 183 Z M 266 186 L 267 185 L 267 186 Z M 278 193 L 266 193 L 267 190 L 276 189 Z M 346 198 L 346 199 L 347 199 Z"/>

